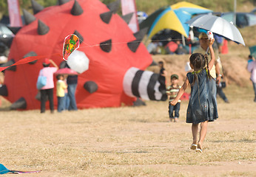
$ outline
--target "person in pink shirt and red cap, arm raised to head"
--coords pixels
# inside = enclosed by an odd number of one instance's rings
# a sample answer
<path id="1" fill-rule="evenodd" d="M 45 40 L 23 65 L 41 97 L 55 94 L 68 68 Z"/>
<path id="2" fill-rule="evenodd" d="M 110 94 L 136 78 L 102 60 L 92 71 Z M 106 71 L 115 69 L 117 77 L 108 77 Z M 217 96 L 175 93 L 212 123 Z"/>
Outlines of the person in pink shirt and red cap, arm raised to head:
<path id="1" fill-rule="evenodd" d="M 50 67 L 50 64 L 53 64 L 54 67 Z M 44 68 L 40 70 L 39 76 L 45 76 L 47 77 L 47 84 L 43 86 L 40 89 L 41 93 L 41 113 L 45 112 L 45 103 L 47 101 L 47 96 L 48 100 L 50 103 L 50 112 L 54 112 L 54 105 L 53 105 L 53 88 L 54 88 L 54 82 L 53 82 L 53 73 L 57 72 L 58 66 L 56 63 L 51 60 L 46 58 L 43 63 Z"/>

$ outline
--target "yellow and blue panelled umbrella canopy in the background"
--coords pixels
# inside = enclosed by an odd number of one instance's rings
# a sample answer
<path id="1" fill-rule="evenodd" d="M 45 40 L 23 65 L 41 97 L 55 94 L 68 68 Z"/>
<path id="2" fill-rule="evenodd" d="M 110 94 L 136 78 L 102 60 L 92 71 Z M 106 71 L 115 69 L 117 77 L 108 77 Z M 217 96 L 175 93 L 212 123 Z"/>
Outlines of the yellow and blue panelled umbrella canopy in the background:
<path id="1" fill-rule="evenodd" d="M 192 15 L 209 12 L 212 12 L 212 10 L 181 1 L 172 6 L 161 7 L 155 13 L 149 15 L 145 21 L 141 22 L 140 28 L 149 27 L 149 38 L 164 29 L 175 30 L 187 37 L 189 35 L 189 25 L 186 24 L 186 21 Z"/>

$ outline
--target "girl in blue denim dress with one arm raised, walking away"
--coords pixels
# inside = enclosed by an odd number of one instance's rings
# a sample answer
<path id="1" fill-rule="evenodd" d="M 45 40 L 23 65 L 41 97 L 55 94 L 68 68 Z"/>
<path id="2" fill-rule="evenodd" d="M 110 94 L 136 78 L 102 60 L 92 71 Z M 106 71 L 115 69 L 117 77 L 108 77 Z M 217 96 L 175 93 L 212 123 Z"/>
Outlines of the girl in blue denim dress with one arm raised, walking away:
<path id="1" fill-rule="evenodd" d="M 211 52 L 211 60 L 208 63 L 207 56 L 201 53 L 194 53 L 190 56 L 189 62 L 194 72 L 186 74 L 186 80 L 183 83 L 177 97 L 171 102 L 176 105 L 187 86 L 191 86 L 191 97 L 186 112 L 186 122 L 192 123 L 193 142 L 192 150 L 201 152 L 203 150 L 203 140 L 206 136 L 208 122 L 212 122 L 218 118 L 217 103 L 210 89 L 210 74 L 212 66 L 215 64 L 215 53 L 212 48 L 214 39 L 208 41 L 209 51 Z M 205 67 L 206 66 L 206 67 Z M 200 136 L 198 140 L 198 125 L 201 124 Z"/>

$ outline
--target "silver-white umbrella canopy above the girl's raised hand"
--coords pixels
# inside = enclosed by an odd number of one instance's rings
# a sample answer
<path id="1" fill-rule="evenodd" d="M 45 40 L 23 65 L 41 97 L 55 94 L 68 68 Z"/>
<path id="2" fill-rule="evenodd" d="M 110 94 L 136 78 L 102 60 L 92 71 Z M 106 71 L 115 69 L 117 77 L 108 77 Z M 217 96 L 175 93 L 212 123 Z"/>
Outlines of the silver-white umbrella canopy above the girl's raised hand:
<path id="1" fill-rule="evenodd" d="M 186 22 L 189 26 L 198 27 L 203 30 L 212 31 L 217 35 L 221 35 L 231 41 L 235 41 L 238 44 L 243 44 L 243 37 L 240 34 L 237 27 L 229 23 L 223 18 L 215 15 L 198 15 Z"/>

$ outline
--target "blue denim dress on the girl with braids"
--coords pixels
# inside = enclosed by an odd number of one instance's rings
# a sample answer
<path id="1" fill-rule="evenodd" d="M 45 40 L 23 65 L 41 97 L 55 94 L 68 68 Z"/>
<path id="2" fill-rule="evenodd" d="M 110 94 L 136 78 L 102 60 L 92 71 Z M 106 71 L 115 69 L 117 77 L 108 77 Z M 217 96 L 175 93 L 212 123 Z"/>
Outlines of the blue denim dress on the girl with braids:
<path id="1" fill-rule="evenodd" d="M 191 97 L 186 111 L 186 122 L 198 124 L 200 122 L 214 121 L 218 118 L 217 103 L 212 95 L 206 69 L 197 74 L 198 80 L 193 83 L 195 75 L 186 74 L 191 86 Z M 211 78 L 212 79 L 212 78 Z"/>

